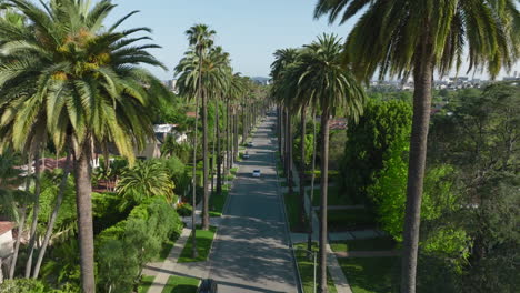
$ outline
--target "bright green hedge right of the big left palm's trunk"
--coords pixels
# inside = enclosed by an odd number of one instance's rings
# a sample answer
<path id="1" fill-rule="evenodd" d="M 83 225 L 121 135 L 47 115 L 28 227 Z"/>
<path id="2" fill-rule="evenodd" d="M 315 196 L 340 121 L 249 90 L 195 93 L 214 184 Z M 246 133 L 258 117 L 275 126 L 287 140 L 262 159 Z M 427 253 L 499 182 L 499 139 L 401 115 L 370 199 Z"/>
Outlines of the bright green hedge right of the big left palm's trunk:
<path id="1" fill-rule="evenodd" d="M 124 221 L 97 238 L 100 289 L 130 292 L 139 283 L 141 267 L 158 257 L 163 243 L 181 229 L 178 214 L 162 196 L 136 206 Z"/>

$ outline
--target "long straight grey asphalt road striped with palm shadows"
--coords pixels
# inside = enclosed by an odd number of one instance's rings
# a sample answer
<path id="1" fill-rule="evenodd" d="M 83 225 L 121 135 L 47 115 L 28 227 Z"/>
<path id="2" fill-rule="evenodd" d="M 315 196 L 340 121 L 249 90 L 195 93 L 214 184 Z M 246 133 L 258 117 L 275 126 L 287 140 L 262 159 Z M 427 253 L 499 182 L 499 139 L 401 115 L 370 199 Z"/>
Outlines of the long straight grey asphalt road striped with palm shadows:
<path id="1" fill-rule="evenodd" d="M 271 127 L 262 122 L 240 164 L 218 238 L 209 257 L 210 277 L 221 293 L 298 292 L 281 199 Z M 254 169 L 261 178 L 252 178 Z"/>

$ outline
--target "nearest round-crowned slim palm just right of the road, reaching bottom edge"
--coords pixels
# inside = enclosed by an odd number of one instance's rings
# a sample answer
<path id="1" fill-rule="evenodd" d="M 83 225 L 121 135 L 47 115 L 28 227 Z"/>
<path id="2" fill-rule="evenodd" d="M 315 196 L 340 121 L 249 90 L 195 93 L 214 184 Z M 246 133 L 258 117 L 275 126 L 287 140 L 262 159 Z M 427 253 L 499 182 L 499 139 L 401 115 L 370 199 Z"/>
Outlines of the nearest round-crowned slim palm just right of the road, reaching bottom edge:
<path id="1" fill-rule="evenodd" d="M 363 89 L 341 65 L 341 39 L 323 34 L 304 47 L 299 61 L 290 69 L 297 74 L 302 93 L 294 104 L 311 104 L 321 109 L 321 205 L 320 205 L 320 276 L 319 292 L 327 292 L 327 190 L 329 170 L 329 119 L 337 109 L 357 120 L 366 100 Z"/>

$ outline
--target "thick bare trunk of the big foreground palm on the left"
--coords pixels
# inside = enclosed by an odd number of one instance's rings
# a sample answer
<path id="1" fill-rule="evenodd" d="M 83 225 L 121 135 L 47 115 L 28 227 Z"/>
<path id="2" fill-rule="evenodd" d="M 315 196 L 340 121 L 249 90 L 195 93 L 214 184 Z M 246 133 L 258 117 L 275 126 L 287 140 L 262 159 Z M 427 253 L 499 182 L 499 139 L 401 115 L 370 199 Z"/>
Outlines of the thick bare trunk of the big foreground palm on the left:
<path id="1" fill-rule="evenodd" d="M 92 228 L 92 185 L 91 185 L 91 146 L 90 141 L 74 153 L 76 204 L 78 212 L 78 231 L 80 242 L 81 287 L 84 293 L 96 292 L 94 246 Z M 74 148 L 74 149 L 76 149 Z"/>

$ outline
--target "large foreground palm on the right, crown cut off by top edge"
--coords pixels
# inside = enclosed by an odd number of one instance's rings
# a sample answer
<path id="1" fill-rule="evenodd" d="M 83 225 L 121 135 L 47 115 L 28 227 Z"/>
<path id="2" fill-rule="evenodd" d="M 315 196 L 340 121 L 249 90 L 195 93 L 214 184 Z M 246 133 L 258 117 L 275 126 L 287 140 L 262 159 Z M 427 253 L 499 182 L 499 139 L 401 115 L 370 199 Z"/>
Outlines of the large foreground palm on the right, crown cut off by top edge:
<path id="1" fill-rule="evenodd" d="M 520 17 L 513 0 L 319 0 L 314 16 L 329 14 L 341 23 L 364 11 L 346 42 L 346 63 L 358 80 L 379 70 L 412 74 L 413 119 L 403 229 L 401 292 L 414 292 L 420 206 L 430 122 L 433 72 L 460 69 L 468 54 L 468 72 L 484 68 L 494 78 L 510 70 L 519 54 Z M 467 49 L 466 49 L 467 48 Z"/>

